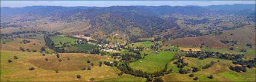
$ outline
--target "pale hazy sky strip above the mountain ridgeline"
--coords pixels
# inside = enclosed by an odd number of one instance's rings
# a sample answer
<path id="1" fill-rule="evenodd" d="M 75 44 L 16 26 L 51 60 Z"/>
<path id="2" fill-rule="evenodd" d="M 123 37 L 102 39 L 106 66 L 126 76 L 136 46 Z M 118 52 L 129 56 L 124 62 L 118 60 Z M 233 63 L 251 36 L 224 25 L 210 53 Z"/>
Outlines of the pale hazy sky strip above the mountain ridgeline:
<path id="1" fill-rule="evenodd" d="M 220 5 L 220 4 L 255 4 L 255 1 L 1 1 L 1 7 L 26 7 L 32 5 L 51 5 L 51 6 L 96 6 L 109 7 L 113 5 Z"/>

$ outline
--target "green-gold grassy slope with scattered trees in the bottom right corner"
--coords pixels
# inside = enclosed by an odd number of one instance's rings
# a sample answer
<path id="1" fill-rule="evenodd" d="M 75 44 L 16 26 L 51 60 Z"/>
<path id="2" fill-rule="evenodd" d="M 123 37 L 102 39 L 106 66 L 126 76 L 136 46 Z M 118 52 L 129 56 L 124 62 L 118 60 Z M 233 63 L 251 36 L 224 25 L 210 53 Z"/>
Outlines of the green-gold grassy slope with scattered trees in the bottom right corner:
<path id="1" fill-rule="evenodd" d="M 219 60 L 220 62 L 217 62 Z M 214 61 L 213 66 L 208 69 L 202 69 L 201 67 Z M 248 69 L 247 72 L 234 72 L 228 69 L 233 65 L 231 60 L 208 58 L 199 60 L 196 58 L 186 57 L 184 62 L 189 63 L 189 66 L 199 67 L 200 71 L 190 72 L 188 74 L 180 74 L 177 71 L 176 65 L 173 65 L 173 73 L 164 75 L 162 78 L 164 81 L 195 81 L 193 78 L 198 77 L 197 81 L 255 81 L 255 68 Z M 194 74 L 194 77 L 189 77 L 189 74 Z M 213 75 L 213 79 L 207 78 L 209 75 Z"/>

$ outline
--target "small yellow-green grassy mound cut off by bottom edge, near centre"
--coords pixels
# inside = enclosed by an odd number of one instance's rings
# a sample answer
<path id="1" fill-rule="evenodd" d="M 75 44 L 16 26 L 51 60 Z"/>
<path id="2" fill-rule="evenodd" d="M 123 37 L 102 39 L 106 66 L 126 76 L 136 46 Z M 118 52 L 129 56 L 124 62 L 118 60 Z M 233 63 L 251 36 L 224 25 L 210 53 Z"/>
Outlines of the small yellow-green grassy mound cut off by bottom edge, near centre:
<path id="1" fill-rule="evenodd" d="M 146 81 L 146 78 L 134 77 L 132 75 L 121 75 L 119 77 L 107 78 L 99 81 Z"/>

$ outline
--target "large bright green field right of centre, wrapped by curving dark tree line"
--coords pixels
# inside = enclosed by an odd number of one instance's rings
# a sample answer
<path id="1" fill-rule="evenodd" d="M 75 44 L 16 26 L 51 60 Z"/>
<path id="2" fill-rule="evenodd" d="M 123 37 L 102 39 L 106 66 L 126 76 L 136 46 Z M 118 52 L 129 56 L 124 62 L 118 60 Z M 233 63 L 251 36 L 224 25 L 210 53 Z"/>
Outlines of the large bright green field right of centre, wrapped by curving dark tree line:
<path id="1" fill-rule="evenodd" d="M 149 54 L 145 59 L 137 60 L 129 65 L 131 68 L 140 69 L 143 72 L 155 72 L 164 68 L 175 55 L 176 52 L 161 51 L 159 54 Z"/>

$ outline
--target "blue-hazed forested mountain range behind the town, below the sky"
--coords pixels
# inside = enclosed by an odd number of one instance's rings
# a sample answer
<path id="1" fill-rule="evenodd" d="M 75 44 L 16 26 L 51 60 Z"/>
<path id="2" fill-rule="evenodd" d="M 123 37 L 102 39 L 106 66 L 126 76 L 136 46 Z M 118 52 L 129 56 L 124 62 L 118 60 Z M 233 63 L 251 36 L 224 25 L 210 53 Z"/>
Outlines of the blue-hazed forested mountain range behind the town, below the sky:
<path id="1" fill-rule="evenodd" d="M 175 7 L 166 5 L 158 7 L 1 7 L 1 28 L 15 25 L 8 20 L 35 22 L 34 25 L 37 26 L 40 26 L 40 23 L 45 20 L 48 21 L 43 25 L 52 22 L 66 23 L 67 25 L 62 27 L 69 26 L 69 28 L 61 28 L 57 31 L 73 29 L 73 31 L 69 31 L 72 34 L 75 34 L 74 31 L 81 31 L 80 34 L 91 34 L 95 38 L 106 38 L 110 34 L 119 32 L 127 35 L 130 40 L 149 37 L 170 39 L 211 34 L 243 26 L 248 22 L 255 22 L 255 4 L 210 5 L 207 7 L 193 5 Z M 36 20 L 40 22 L 36 22 Z M 29 26 L 31 25 L 21 25 L 21 27 Z M 59 26 L 61 27 L 61 25 Z M 69 32 L 65 33 L 71 34 Z"/>

